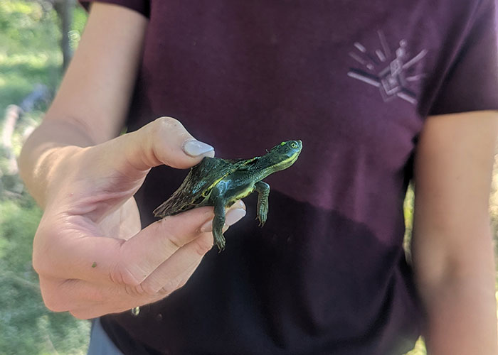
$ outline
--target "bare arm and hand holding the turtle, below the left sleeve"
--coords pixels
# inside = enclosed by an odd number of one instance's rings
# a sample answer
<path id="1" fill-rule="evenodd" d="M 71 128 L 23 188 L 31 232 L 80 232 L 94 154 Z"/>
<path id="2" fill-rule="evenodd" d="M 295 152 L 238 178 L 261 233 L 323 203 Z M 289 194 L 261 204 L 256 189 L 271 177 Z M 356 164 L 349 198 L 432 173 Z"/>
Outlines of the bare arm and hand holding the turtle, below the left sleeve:
<path id="1" fill-rule="evenodd" d="M 124 121 L 134 83 L 129 73 L 137 70 L 146 23 L 133 11 L 95 6 L 81 50 L 19 159 L 22 178 L 44 209 L 33 242 L 43 300 L 78 318 L 166 297 L 213 246 L 212 207 L 141 230 L 133 198 L 150 168 L 189 168 L 213 150 L 199 151 L 194 137 L 169 117 L 113 138 Z M 243 214 L 243 203 L 233 204 L 226 224 Z"/>

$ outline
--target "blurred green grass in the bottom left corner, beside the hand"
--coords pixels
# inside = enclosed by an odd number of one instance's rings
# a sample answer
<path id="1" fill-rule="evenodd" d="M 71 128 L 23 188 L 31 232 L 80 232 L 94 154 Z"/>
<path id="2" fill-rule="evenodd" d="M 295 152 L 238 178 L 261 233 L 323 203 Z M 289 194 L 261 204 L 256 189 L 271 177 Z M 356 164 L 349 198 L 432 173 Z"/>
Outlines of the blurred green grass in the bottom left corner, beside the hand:
<path id="1" fill-rule="evenodd" d="M 31 266 L 40 218 L 30 200 L 0 202 L 0 354 L 85 354 L 88 322 L 50 312 L 41 300 Z"/>

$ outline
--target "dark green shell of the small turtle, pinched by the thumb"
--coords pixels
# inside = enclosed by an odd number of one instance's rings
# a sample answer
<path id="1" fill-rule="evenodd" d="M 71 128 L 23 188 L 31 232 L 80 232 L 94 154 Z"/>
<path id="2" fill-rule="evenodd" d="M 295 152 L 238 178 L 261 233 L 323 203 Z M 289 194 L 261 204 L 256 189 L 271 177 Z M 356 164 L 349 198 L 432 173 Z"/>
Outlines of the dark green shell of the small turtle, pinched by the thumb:
<path id="1" fill-rule="evenodd" d="M 154 216 L 164 218 L 195 207 L 207 206 L 209 194 L 220 180 L 236 170 L 248 169 L 260 157 L 228 160 L 204 157 L 201 163 L 192 167 L 180 187 L 154 209 Z"/>

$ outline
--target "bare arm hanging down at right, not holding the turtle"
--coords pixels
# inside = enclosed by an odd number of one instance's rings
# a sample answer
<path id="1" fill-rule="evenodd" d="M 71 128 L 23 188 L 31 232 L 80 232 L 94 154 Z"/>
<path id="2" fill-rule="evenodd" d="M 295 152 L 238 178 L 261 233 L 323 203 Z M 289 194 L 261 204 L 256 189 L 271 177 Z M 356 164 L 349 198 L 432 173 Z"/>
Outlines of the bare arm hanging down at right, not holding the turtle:
<path id="1" fill-rule="evenodd" d="M 488 213 L 497 117 L 431 116 L 420 136 L 412 250 L 428 354 L 498 354 Z"/>

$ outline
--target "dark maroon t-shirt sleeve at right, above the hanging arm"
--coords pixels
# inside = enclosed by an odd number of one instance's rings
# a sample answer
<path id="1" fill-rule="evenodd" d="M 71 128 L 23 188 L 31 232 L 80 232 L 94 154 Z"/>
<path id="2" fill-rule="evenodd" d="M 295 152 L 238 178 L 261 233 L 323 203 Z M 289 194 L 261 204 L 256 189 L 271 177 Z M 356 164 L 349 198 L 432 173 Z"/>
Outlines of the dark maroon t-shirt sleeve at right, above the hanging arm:
<path id="1" fill-rule="evenodd" d="M 429 114 L 498 109 L 495 0 L 481 0 L 464 28 Z"/>

